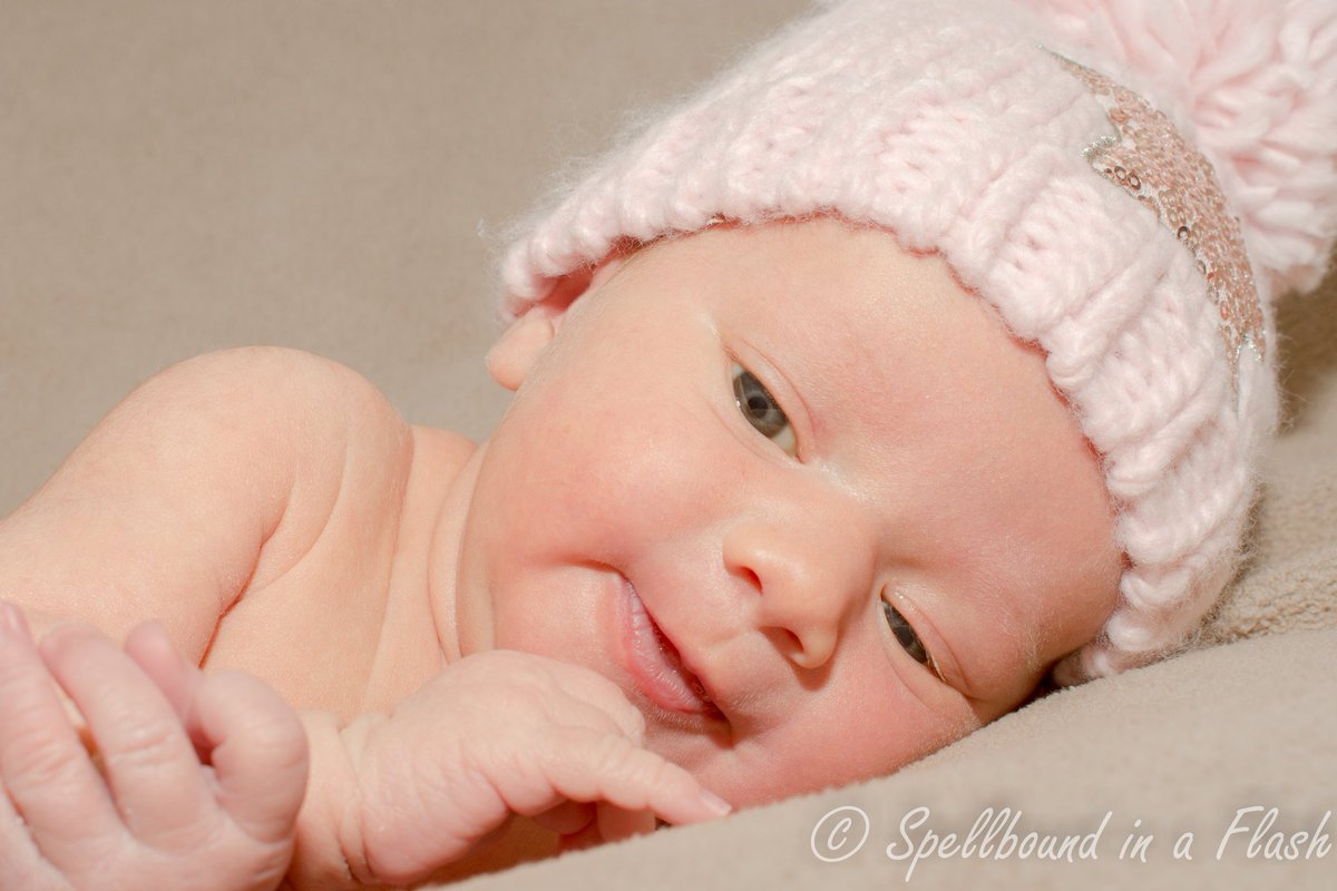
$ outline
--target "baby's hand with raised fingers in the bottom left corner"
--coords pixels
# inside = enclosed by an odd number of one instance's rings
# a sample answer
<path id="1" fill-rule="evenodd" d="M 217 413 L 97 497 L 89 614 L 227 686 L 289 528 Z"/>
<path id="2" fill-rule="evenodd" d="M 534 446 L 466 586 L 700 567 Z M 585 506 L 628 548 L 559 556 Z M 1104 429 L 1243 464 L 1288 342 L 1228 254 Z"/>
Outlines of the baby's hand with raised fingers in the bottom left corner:
<path id="1" fill-rule="evenodd" d="M 206 677 L 156 624 L 37 648 L 0 604 L 0 888 L 273 888 L 305 787 L 301 723 L 261 681 Z"/>

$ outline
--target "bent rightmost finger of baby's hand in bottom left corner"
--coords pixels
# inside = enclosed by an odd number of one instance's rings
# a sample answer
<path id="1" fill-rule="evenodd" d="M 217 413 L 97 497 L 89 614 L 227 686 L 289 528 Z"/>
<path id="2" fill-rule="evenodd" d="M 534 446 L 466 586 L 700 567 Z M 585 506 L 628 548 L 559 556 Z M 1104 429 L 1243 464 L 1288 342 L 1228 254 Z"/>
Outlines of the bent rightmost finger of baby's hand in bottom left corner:
<path id="1" fill-rule="evenodd" d="M 271 688 L 242 672 L 199 687 L 189 720 L 211 749 L 218 803 L 258 842 L 283 842 L 306 793 L 306 731 Z"/>

